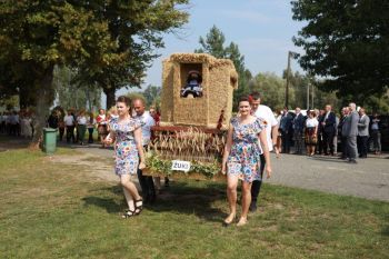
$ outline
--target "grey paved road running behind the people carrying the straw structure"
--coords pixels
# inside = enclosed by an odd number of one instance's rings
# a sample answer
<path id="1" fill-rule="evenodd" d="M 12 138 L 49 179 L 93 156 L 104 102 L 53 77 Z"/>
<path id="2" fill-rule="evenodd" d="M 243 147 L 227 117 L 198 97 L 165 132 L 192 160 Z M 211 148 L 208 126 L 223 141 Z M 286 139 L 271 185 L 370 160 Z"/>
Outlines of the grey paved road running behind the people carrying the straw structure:
<path id="1" fill-rule="evenodd" d="M 112 157 L 113 151 L 98 146 L 77 147 L 82 152 Z M 359 159 L 350 165 L 332 157 L 272 156 L 273 175 L 269 183 L 321 190 L 389 201 L 389 155 Z"/>

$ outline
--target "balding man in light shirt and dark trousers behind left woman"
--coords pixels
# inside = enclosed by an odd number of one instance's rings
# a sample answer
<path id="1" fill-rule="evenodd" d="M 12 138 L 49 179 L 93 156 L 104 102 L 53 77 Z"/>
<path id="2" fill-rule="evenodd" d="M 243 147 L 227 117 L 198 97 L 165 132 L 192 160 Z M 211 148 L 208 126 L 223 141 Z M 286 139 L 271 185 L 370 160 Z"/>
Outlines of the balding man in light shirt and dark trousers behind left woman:
<path id="1" fill-rule="evenodd" d="M 142 146 L 147 148 L 151 139 L 151 127 L 156 124 L 154 119 L 149 112 L 146 112 L 144 101 L 142 99 L 134 99 L 132 101 L 133 110 L 136 111 L 136 119 L 140 120 L 142 127 Z M 142 188 L 142 196 L 144 203 L 152 203 L 156 201 L 156 187 L 152 181 L 152 177 L 144 177 L 142 170 L 138 169 L 138 179 L 140 187 Z"/>

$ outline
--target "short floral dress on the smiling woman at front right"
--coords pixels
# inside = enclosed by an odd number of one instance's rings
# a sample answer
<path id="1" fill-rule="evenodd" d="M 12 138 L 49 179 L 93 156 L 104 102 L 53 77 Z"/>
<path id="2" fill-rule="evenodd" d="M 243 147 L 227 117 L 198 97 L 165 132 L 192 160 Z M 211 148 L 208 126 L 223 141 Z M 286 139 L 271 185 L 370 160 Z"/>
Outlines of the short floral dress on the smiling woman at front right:
<path id="1" fill-rule="evenodd" d="M 227 161 L 228 175 L 238 176 L 246 182 L 261 180 L 259 132 L 265 129 L 263 120 L 241 124 L 239 118 L 232 118 L 232 147 Z"/>

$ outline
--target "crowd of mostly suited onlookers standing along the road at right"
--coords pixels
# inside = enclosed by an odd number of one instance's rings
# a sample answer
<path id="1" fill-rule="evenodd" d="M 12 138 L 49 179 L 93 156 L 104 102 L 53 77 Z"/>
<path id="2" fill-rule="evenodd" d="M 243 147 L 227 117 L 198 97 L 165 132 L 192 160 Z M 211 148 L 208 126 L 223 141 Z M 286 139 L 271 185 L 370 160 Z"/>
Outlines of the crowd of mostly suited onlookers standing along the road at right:
<path id="1" fill-rule="evenodd" d="M 293 112 L 283 109 L 277 119 L 279 147 L 283 153 L 290 153 L 293 145 L 297 155 L 302 155 L 305 150 L 307 156 L 341 153 L 341 159 L 356 163 L 357 157 L 367 158 L 370 135 L 375 153 L 381 152 L 378 114 L 373 114 L 370 123 L 366 110 L 358 108 L 357 111 L 353 102 L 342 108 L 340 117 L 327 104 L 323 110 L 308 110 L 307 114 L 302 114 L 300 108 L 296 108 Z"/>

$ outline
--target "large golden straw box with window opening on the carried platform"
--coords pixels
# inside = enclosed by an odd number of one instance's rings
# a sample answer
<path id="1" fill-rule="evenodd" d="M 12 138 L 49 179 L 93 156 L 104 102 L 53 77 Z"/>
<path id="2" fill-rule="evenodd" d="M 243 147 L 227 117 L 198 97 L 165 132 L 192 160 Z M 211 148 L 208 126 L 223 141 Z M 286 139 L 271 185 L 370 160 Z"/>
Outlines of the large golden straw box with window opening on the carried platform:
<path id="1" fill-rule="evenodd" d="M 180 96 L 190 70 L 202 76 L 201 98 Z M 222 128 L 226 129 L 237 88 L 238 73 L 231 60 L 216 59 L 206 53 L 173 53 L 163 60 L 160 123 L 216 128 L 223 112 Z"/>

